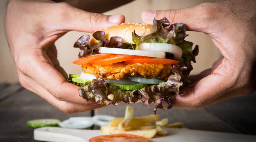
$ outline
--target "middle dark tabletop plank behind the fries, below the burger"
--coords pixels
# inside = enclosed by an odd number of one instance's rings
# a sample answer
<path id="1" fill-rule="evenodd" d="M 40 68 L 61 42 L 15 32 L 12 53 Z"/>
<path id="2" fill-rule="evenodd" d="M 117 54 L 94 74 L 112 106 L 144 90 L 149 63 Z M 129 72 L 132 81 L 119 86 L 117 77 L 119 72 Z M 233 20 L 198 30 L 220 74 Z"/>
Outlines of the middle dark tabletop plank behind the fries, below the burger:
<path id="1" fill-rule="evenodd" d="M 95 115 L 102 114 L 115 117 L 124 117 L 126 105 L 127 104 L 120 103 L 115 107 L 110 105 L 105 108 L 99 108 L 95 110 Z M 130 105 L 134 108 L 134 117 L 149 115 L 153 112 L 153 104 L 149 106 L 144 106 L 142 103 L 135 103 Z M 230 126 L 226 122 L 206 111 L 204 108 L 172 108 L 165 111 L 158 109 L 156 113 L 159 114 L 161 118 L 168 118 L 169 123 L 182 122 L 184 123 L 184 127 L 189 129 L 241 133 L 236 128 Z M 94 126 L 94 129 L 99 129 L 99 127 Z"/>

